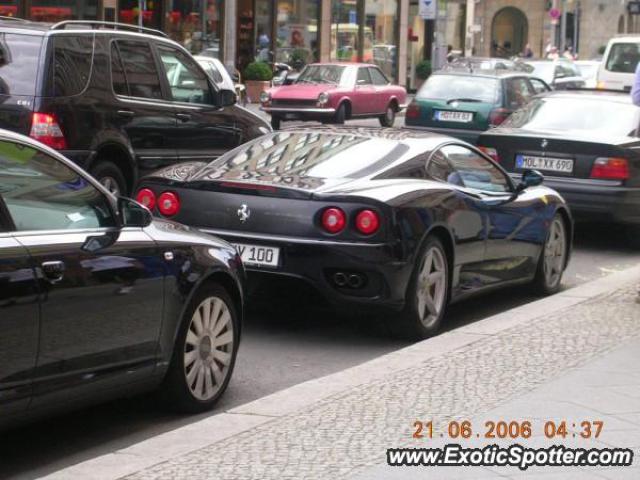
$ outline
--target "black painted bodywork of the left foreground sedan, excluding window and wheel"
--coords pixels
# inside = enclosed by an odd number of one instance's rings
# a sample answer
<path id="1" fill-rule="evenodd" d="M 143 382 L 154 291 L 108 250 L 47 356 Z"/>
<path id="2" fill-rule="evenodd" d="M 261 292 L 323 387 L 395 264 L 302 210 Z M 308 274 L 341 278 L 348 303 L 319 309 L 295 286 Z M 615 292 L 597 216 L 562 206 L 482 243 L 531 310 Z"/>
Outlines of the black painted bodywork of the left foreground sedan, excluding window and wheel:
<path id="1" fill-rule="evenodd" d="M 114 197 L 55 151 L 25 137 Z M 0 426 L 157 387 L 195 292 L 215 281 L 240 318 L 245 273 L 226 242 L 168 220 L 16 232 L 0 196 Z M 98 247 L 96 247 L 98 245 Z M 170 255 L 167 255 L 170 254 Z M 64 261 L 60 281 L 42 262 Z"/>

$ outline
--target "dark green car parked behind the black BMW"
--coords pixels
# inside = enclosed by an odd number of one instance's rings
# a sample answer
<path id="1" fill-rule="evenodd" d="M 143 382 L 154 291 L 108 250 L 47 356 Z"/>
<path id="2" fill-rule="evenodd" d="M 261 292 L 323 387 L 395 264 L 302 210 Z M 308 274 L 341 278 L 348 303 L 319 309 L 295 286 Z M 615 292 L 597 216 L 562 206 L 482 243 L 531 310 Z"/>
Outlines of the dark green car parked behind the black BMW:
<path id="1" fill-rule="evenodd" d="M 509 70 L 440 71 L 418 90 L 405 125 L 475 143 L 483 131 L 549 90 L 539 78 Z"/>

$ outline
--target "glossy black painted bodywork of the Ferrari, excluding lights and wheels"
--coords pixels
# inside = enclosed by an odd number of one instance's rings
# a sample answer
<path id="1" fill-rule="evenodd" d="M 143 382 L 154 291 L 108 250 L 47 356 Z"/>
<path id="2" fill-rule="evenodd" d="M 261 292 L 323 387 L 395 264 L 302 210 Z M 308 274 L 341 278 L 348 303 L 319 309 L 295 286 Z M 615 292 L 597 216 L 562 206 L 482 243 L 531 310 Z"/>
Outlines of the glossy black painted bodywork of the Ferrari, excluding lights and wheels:
<path id="1" fill-rule="evenodd" d="M 424 136 L 425 149 L 460 144 L 448 137 L 409 131 L 357 129 L 354 134 Z M 448 250 L 455 301 L 495 286 L 531 280 L 553 216 L 562 212 L 570 232 L 572 228 L 564 201 L 545 187 L 528 189 L 501 204 L 495 196 L 445 183 L 381 178 L 397 166 L 392 162 L 379 166 L 364 181 L 299 177 L 297 183 L 287 184 L 278 177 L 264 182 L 273 187 L 271 191 L 247 190 L 234 183 L 234 175 L 227 178 L 221 173 L 221 165 L 233 163 L 236 155 L 238 151 L 230 152 L 210 166 L 192 163 L 165 169 L 143 179 L 138 188 L 149 188 L 156 195 L 176 193 L 183 205 L 177 221 L 230 242 L 281 247 L 284 261 L 279 269 L 247 270 L 304 279 L 340 306 L 401 309 L 417 255 L 430 234 L 440 237 Z M 260 178 L 247 175 L 245 185 L 252 185 L 252 180 L 263 184 Z M 252 209 L 254 221 L 239 221 L 236 210 L 243 203 Z M 318 215 L 336 205 L 345 210 L 350 222 L 355 211 L 374 209 L 381 214 L 382 227 L 371 237 L 356 232 L 352 223 L 339 234 L 328 234 L 320 228 Z M 331 273 L 337 269 L 364 272 L 375 288 L 361 292 L 338 288 L 331 282 Z"/>

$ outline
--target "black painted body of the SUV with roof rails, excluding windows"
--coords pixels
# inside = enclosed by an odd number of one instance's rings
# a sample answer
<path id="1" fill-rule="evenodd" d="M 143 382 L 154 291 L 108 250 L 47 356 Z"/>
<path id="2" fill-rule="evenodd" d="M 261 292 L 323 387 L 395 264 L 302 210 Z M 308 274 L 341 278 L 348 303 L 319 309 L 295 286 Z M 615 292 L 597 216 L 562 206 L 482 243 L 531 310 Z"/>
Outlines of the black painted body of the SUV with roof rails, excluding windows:
<path id="1" fill-rule="evenodd" d="M 43 38 L 35 95 L 0 95 L 0 128 L 28 135 L 32 112 L 54 114 L 67 140 L 67 149 L 61 153 L 86 170 L 92 170 L 101 160 L 114 162 L 124 173 L 129 190 L 140 176 L 158 168 L 193 159 L 194 155 L 215 158 L 271 130 L 267 122 L 237 105 L 219 107 L 173 101 L 156 45 L 190 54 L 169 39 L 82 27 L 49 30 L 46 24 L 2 20 L 0 32 Z M 56 35 L 85 35 L 95 39 L 91 74 L 86 88 L 78 95 L 46 96 L 46 76 L 52 63 L 50 39 Z M 114 93 L 110 49 L 113 41 L 123 39 L 151 46 L 160 74 L 162 99 Z M 213 84 L 211 89 L 217 91 Z M 185 112 L 188 118 L 183 116 Z M 187 119 L 182 120 L 184 118 Z"/>

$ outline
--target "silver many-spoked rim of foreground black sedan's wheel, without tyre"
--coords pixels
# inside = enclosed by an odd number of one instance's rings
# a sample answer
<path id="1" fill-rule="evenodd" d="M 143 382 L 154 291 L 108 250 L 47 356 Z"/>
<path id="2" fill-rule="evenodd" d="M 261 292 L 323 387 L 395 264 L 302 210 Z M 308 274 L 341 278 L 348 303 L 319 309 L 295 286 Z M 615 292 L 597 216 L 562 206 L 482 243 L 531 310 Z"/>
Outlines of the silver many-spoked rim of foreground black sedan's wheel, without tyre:
<path id="1" fill-rule="evenodd" d="M 184 374 L 191 394 L 210 400 L 229 375 L 233 353 L 233 322 L 220 297 L 200 303 L 189 324 L 184 344 Z"/>

